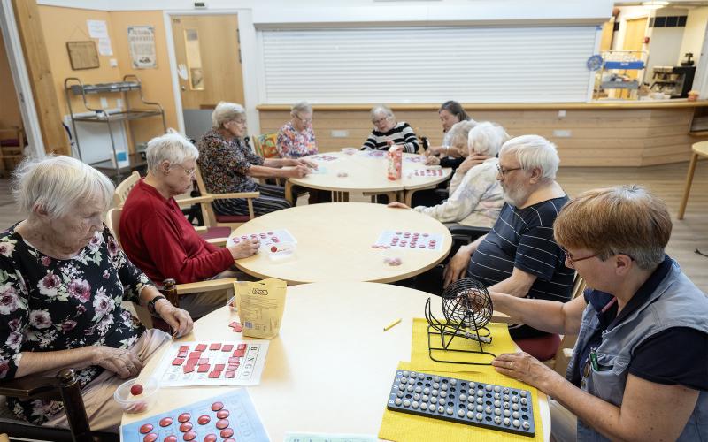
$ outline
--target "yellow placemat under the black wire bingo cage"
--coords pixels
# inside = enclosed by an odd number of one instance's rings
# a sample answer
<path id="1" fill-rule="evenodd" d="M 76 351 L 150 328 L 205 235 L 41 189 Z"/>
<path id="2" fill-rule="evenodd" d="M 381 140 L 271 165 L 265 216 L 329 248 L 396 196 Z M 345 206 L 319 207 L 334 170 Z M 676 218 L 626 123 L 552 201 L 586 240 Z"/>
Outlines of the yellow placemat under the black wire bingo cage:
<path id="1" fill-rule="evenodd" d="M 509 336 L 509 329 L 506 324 L 491 323 L 487 324 L 489 331 L 491 333 L 492 343 L 482 344 L 482 349 L 485 352 L 491 354 L 496 354 L 497 356 L 502 353 L 514 353 L 516 352 L 516 344 L 512 341 L 512 337 Z M 413 319 L 413 339 L 411 346 L 411 364 L 413 370 L 419 371 L 488 371 L 494 370 L 491 366 L 486 365 L 466 365 L 460 363 L 443 363 L 435 362 L 430 359 L 428 355 L 428 335 L 427 335 L 427 321 L 423 318 Z M 435 347 L 443 347 L 440 336 L 433 335 L 430 337 L 431 342 Z M 478 342 L 470 339 L 455 338 L 452 339 L 450 343 L 450 349 L 480 349 Z M 470 354 L 470 353 L 460 353 L 452 351 L 434 350 L 433 356 L 437 360 L 449 361 L 463 361 L 463 362 L 492 362 L 494 356 L 490 354 Z M 496 373 L 496 371 L 495 371 Z"/>

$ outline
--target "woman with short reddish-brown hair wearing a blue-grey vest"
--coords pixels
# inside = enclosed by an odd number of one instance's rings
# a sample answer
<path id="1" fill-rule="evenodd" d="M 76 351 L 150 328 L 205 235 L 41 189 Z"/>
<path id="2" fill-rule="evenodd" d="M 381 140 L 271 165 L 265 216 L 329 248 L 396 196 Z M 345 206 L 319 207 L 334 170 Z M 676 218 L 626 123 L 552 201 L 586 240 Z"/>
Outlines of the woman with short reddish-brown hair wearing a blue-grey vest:
<path id="1" fill-rule="evenodd" d="M 584 295 L 491 295 L 513 319 L 578 335 L 566 379 L 524 353 L 500 354 L 496 370 L 553 398 L 558 441 L 708 440 L 708 300 L 664 253 L 664 202 L 637 186 L 590 190 L 554 229 Z"/>

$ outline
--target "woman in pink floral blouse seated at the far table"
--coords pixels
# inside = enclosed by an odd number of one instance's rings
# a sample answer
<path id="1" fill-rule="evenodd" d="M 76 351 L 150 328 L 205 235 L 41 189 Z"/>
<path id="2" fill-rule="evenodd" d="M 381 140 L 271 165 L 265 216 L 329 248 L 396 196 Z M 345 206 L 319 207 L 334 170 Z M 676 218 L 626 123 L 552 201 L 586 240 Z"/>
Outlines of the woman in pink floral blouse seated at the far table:
<path id="1" fill-rule="evenodd" d="M 299 158 L 315 155 L 317 142 L 312 131 L 312 106 L 307 102 L 299 102 L 290 110 L 290 121 L 278 131 L 278 141 L 275 148 L 281 158 Z"/>

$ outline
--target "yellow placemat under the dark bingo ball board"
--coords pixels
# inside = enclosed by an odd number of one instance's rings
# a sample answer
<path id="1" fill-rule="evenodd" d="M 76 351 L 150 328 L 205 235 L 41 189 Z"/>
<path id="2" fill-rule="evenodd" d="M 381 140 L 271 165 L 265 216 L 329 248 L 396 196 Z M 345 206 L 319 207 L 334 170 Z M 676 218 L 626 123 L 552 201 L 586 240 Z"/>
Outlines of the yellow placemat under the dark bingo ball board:
<path id="1" fill-rule="evenodd" d="M 414 367 L 411 362 L 399 362 L 398 370 L 420 369 Z M 495 373 L 496 371 L 492 373 L 488 372 L 488 370 L 485 370 L 484 373 L 437 372 L 440 376 L 458 377 L 475 382 L 479 381 L 497 385 L 508 385 L 514 388 L 524 388 L 531 392 L 534 404 L 535 423 L 535 436 L 533 438 L 504 431 L 489 430 L 465 423 L 453 423 L 443 421 L 443 419 L 409 415 L 407 413 L 390 411 L 388 408 L 383 412 L 379 438 L 395 440 L 396 442 L 428 442 L 430 440 L 444 440 L 445 442 L 468 442 L 470 440 L 485 440 L 491 442 L 511 440 L 529 442 L 532 440 L 543 440 L 543 426 L 538 407 L 538 391 L 511 377 L 505 377 L 504 375 Z"/>

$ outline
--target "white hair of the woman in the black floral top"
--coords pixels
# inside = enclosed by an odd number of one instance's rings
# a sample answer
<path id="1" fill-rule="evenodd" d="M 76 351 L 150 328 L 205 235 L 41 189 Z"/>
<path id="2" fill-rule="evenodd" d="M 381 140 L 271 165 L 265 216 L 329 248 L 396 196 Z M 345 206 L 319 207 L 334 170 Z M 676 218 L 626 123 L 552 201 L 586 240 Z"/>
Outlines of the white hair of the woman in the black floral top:
<path id="1" fill-rule="evenodd" d="M 42 208 L 54 219 L 92 198 L 100 199 L 108 210 L 115 190 L 111 179 L 71 156 L 27 158 L 12 176 L 19 210 L 32 213 Z"/>

